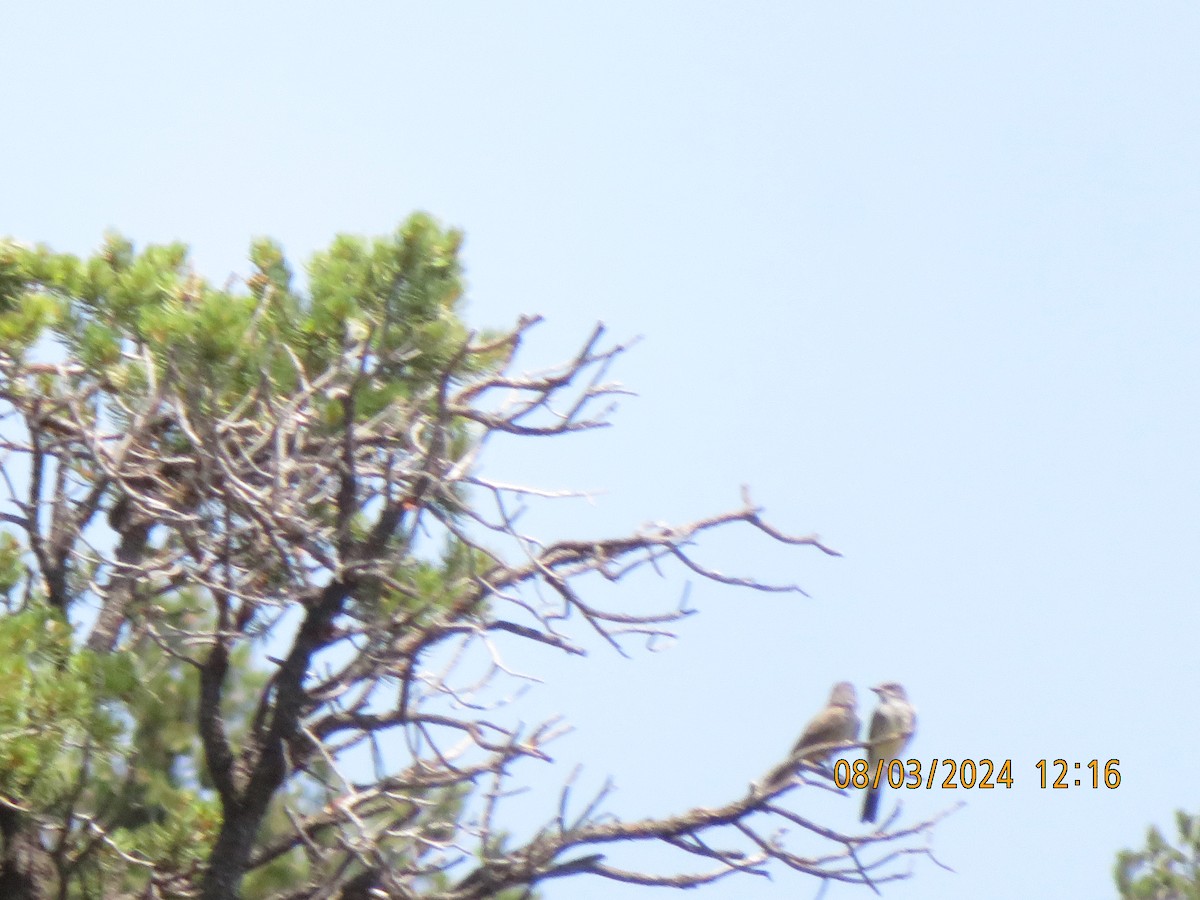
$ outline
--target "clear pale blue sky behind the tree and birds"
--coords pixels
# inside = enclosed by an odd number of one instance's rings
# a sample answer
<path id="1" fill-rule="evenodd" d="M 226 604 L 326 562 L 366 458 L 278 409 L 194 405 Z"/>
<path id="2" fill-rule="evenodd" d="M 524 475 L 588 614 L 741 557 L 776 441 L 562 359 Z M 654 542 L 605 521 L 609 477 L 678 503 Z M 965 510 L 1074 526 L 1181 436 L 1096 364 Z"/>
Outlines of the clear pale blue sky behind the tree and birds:
<path id="1" fill-rule="evenodd" d="M 889 898 L 1111 895 L 1115 852 L 1194 804 L 1200 7 L 118 1 L 10 5 L 4 31 L 0 233 L 181 239 L 221 282 L 252 235 L 304 259 L 428 210 L 467 232 L 473 323 L 547 317 L 530 362 L 598 319 L 646 336 L 616 428 L 487 463 L 607 491 L 539 511 L 550 534 L 746 482 L 845 553 L 731 536 L 708 558 L 811 599 L 696 586 L 670 650 L 530 660 L 528 719 L 576 732 L 524 774 L 611 775 L 619 815 L 716 803 L 832 682 L 898 679 L 913 755 L 1016 785 L 906 796 L 970 805 L 935 840 L 956 872 L 918 860 Z M 1124 780 L 1043 791 L 1043 757 Z"/>

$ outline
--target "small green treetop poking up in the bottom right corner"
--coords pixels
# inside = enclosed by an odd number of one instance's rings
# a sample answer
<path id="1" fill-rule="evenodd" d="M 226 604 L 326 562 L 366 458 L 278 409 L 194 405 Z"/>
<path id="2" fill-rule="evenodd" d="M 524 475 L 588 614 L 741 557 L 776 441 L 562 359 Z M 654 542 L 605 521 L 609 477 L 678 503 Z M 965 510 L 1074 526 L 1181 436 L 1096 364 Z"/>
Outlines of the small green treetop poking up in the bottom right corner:
<path id="1" fill-rule="evenodd" d="M 1175 814 L 1180 846 L 1158 828 L 1146 833 L 1146 848 L 1117 853 L 1114 880 L 1122 900 L 1200 900 L 1200 816 Z"/>

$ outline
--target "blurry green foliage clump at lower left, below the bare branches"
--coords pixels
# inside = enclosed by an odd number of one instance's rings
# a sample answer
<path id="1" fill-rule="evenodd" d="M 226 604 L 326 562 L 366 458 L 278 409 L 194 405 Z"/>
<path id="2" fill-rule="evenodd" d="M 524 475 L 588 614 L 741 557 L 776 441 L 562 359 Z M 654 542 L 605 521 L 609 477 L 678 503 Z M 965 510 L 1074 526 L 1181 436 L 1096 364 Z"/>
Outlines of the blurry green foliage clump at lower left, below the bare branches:
<path id="1" fill-rule="evenodd" d="M 149 659 L 74 648 L 44 606 L 0 618 L 0 793 L 42 815 L 98 811 L 112 842 L 83 868 L 124 869 L 118 848 L 160 871 L 196 864 L 220 822 L 175 774 L 194 688 Z"/>

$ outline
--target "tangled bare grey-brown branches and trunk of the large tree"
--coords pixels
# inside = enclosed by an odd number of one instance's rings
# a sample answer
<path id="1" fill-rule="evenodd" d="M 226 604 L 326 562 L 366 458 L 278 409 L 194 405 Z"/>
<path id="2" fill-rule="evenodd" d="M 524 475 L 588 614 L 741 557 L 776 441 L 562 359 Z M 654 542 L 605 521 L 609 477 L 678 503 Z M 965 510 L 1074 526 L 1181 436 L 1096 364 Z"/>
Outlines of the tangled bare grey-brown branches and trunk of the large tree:
<path id="1" fill-rule="evenodd" d="M 274 296 L 258 296 L 247 344 Z M 433 371 L 400 384 L 420 348 L 392 340 L 390 316 L 346 323 L 328 359 L 284 344 L 221 384 L 145 343 L 122 358 L 136 390 L 76 365 L 0 359 L 0 403 L 26 434 L 4 446 L 30 467 L 23 493 L 0 467 L 14 509 L 0 521 L 24 533 L 47 599 L 67 611 L 74 590 L 98 605 L 91 650 L 137 648 L 199 678 L 196 737 L 221 828 L 206 875 L 155 871 L 154 889 L 233 896 L 246 872 L 293 858 L 308 882 L 280 896 L 469 900 L 570 876 L 682 888 L 772 866 L 877 889 L 907 877 L 907 858 L 932 858 L 918 839 L 942 815 L 863 835 L 781 805 L 797 786 L 840 793 L 787 757 L 722 805 L 638 821 L 604 810 L 611 785 L 572 815 L 570 776 L 546 826 L 502 838 L 514 769 L 553 764 L 568 731 L 516 718 L 538 673 L 506 653 L 584 656 L 590 635 L 629 655 L 635 641 L 674 637 L 692 612 L 686 586 L 658 607 L 594 596 L 600 580 L 640 571 L 804 593 L 721 571 L 706 554 L 714 532 L 749 526 L 768 544 L 839 553 L 768 521 L 744 488 L 736 509 L 690 522 L 526 533 L 528 505 L 592 494 L 479 475 L 490 438 L 607 427 L 628 395 L 610 371 L 632 342 L 607 343 L 596 325 L 564 364 L 522 372 L 517 352 L 539 322 L 523 318 L 493 338 L 460 335 Z M 112 534 L 85 538 L 102 508 Z M 247 653 L 271 667 L 239 698 Z M 86 799 L 77 790 L 73 830 L 54 832 L 62 852 L 78 833 L 86 853 L 146 868 Z M 785 842 L 784 826 L 800 842 Z M 640 842 L 678 865 L 622 865 L 619 848 Z"/>

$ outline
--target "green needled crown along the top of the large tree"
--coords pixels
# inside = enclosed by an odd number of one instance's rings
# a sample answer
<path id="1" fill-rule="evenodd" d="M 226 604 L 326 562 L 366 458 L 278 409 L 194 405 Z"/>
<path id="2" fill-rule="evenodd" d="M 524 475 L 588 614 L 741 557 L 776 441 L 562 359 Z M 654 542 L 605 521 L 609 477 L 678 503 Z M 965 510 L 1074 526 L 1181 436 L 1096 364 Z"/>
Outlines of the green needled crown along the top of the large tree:
<path id="1" fill-rule="evenodd" d="M 376 365 L 359 413 L 368 418 L 458 354 L 467 337 L 458 317 L 461 244 L 461 233 L 420 214 L 390 238 L 338 236 L 313 257 L 310 296 L 301 298 L 282 250 L 268 239 L 251 245 L 256 271 L 245 294 L 198 277 L 181 244 L 137 252 L 110 234 L 97 256 L 80 260 L 8 241 L 0 245 L 0 352 L 19 356 L 54 328 L 89 370 L 137 394 L 145 378 L 134 352 L 144 347 L 160 378 L 203 384 L 209 402 L 227 409 L 264 372 L 276 390 L 289 391 L 366 342 Z M 338 421 L 338 404 L 328 412 Z"/>

